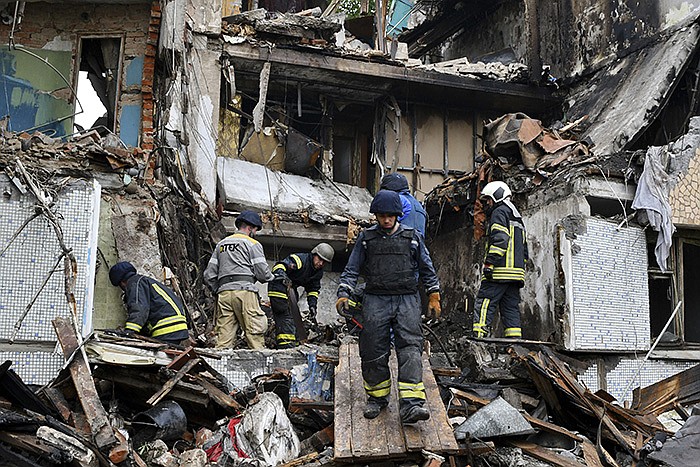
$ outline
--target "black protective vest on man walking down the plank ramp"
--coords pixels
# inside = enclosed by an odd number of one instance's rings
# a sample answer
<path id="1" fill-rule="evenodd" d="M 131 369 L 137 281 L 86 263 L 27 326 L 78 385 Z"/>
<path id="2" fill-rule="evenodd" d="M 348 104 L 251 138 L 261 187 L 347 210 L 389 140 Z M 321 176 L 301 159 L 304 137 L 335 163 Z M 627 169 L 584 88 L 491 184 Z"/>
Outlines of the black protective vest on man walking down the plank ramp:
<path id="1" fill-rule="evenodd" d="M 366 260 L 362 275 L 367 282 L 366 293 L 401 295 L 418 290 L 411 255 L 413 235 L 413 229 L 408 228 L 394 235 L 374 229 L 365 232 Z"/>

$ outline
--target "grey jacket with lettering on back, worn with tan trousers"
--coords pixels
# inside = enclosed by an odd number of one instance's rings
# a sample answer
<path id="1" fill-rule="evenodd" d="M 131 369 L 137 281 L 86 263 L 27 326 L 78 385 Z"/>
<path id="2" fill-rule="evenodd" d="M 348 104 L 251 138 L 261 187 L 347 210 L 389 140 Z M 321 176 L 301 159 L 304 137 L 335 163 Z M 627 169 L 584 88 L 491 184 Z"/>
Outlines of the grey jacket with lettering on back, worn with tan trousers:
<path id="1" fill-rule="evenodd" d="M 273 278 L 260 242 L 238 232 L 217 243 L 204 271 L 204 283 L 214 293 L 224 290 L 256 292 L 256 280 L 268 282 Z"/>

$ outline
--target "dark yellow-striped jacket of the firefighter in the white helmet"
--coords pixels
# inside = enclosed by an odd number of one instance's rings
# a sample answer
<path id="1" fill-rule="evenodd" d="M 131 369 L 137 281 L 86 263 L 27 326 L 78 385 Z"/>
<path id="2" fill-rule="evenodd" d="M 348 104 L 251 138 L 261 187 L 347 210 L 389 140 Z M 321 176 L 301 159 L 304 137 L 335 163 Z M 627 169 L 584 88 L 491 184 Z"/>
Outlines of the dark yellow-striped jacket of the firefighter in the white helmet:
<path id="1" fill-rule="evenodd" d="M 523 284 L 527 260 L 523 219 L 510 202 L 499 203 L 491 213 L 484 260 L 484 263 L 493 265 L 491 280 Z"/>

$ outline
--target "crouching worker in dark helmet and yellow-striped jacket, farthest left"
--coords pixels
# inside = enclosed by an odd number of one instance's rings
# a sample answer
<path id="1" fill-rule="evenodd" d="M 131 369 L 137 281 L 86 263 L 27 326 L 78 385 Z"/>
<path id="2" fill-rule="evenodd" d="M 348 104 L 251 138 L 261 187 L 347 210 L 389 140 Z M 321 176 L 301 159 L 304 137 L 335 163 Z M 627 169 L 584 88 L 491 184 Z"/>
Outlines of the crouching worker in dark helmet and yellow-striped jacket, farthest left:
<path id="1" fill-rule="evenodd" d="M 124 291 L 127 317 L 124 328 L 168 344 L 179 344 L 189 337 L 182 301 L 155 279 L 142 276 L 128 261 L 109 269 L 109 281 Z"/>

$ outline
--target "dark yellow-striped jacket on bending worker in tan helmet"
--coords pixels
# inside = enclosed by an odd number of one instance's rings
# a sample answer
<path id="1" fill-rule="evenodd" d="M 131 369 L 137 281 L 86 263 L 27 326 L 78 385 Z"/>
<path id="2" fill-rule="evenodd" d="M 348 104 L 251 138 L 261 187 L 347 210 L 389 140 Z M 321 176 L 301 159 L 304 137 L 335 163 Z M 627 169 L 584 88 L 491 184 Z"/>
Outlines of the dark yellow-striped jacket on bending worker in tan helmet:
<path id="1" fill-rule="evenodd" d="M 280 274 L 284 272 L 292 281 L 292 287 L 304 287 L 309 308 L 316 308 L 318 294 L 321 290 L 323 269 L 314 269 L 313 254 L 293 253 L 272 267 L 275 278 L 268 285 L 267 295 L 270 298 L 287 299 L 287 288 Z"/>

